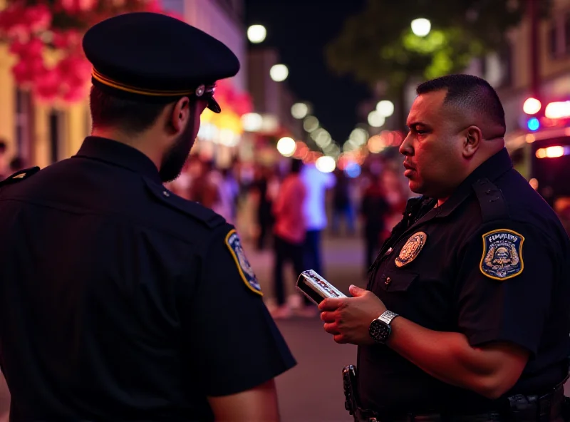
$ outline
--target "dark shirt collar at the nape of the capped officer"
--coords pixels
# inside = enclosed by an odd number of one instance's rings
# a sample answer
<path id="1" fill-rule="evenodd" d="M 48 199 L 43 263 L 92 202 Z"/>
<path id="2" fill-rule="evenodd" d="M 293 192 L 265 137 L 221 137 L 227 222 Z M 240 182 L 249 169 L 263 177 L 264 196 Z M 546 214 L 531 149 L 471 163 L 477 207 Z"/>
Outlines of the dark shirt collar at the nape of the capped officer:
<path id="1" fill-rule="evenodd" d="M 75 156 L 117 165 L 162 184 L 155 163 L 147 155 L 116 140 L 88 136 Z"/>

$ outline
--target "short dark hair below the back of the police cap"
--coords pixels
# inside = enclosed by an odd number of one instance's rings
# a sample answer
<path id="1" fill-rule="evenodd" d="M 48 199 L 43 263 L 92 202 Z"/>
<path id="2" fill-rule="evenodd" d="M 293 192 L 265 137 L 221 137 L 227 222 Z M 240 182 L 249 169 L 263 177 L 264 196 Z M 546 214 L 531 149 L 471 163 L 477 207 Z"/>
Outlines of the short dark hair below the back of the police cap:
<path id="1" fill-rule="evenodd" d="M 118 98 L 98 86 L 92 86 L 89 105 L 93 128 L 112 126 L 126 133 L 140 133 L 155 123 L 166 103 L 143 103 Z"/>

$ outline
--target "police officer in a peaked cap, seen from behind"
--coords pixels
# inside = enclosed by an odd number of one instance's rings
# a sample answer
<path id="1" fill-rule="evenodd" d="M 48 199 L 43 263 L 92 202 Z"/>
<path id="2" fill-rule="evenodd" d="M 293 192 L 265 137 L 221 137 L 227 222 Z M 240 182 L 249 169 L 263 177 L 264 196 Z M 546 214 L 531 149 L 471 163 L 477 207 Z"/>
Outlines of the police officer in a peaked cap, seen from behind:
<path id="1" fill-rule="evenodd" d="M 93 135 L 0 188 L 0 364 L 12 421 L 278 421 L 295 361 L 239 236 L 163 187 L 239 62 L 168 16 L 83 38 Z"/>

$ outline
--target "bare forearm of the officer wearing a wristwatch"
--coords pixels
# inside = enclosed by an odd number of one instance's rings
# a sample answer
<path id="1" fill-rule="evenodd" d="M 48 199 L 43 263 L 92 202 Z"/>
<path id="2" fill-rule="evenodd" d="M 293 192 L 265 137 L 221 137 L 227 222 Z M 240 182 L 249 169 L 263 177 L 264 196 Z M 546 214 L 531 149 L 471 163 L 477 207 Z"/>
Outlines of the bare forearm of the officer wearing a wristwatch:
<path id="1" fill-rule="evenodd" d="M 391 349 L 440 381 L 487 398 L 512 388 L 524 368 L 506 359 L 509 354 L 501 346 L 473 348 L 460 333 L 432 331 L 403 317 L 394 319 L 392 327 Z"/>

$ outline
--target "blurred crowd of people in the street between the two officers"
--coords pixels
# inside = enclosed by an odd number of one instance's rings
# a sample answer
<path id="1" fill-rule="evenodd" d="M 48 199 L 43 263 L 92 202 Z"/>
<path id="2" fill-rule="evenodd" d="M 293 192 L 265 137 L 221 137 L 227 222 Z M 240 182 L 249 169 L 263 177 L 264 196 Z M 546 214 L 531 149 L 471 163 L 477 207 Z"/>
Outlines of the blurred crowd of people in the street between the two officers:
<path id="1" fill-rule="evenodd" d="M 316 307 L 306 299 L 286 297 L 284 269 L 290 265 L 294 279 L 305 269 L 326 277 L 323 237 L 359 236 L 366 274 L 410 197 L 400 167 L 400 161 L 377 158 L 354 177 L 338 168 L 323 173 L 313 163 L 293 159 L 274 165 L 236 160 L 219 169 L 191 155 L 180 177 L 167 187 L 219 213 L 237 227 L 244 242 L 273 254 L 268 307 L 274 318 L 312 317 Z"/>

